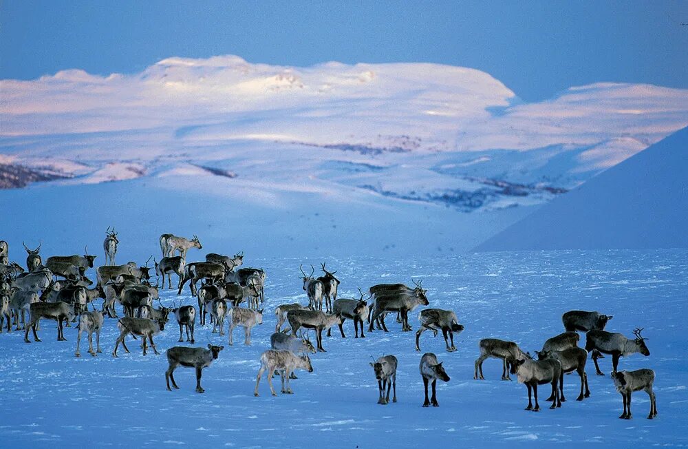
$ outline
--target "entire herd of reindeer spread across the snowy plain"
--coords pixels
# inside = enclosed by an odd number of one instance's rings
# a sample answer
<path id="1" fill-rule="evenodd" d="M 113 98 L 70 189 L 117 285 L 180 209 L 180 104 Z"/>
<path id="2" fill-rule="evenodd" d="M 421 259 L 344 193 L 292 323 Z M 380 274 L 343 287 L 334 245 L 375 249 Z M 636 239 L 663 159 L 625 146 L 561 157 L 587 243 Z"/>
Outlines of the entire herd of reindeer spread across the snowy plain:
<path id="1" fill-rule="evenodd" d="M 127 336 L 141 339 L 143 355 L 147 355 L 148 348 L 155 354 L 160 354 L 153 341 L 153 337 L 164 332 L 170 317 L 174 317 L 179 325 L 179 342 L 195 343 L 196 319 L 201 326 L 207 326 L 209 320 L 211 333 L 225 335 L 224 324 L 227 322 L 228 344 L 233 345 L 233 331 L 236 327 L 244 328 L 244 344 L 251 344 L 252 328 L 263 323 L 265 303 L 266 273 L 263 269 L 241 268 L 244 253 L 237 253 L 233 257 L 218 253 L 208 253 L 204 262 L 186 262 L 189 249 L 202 249 L 197 236 L 191 240 L 162 234 L 160 249 L 162 258 L 158 262 L 153 258 L 153 267 L 149 267 L 149 260 L 144 265 L 135 262 L 116 265 L 115 258 L 119 240 L 114 229 L 108 227 L 103 242 L 105 251 L 105 265 L 96 269 L 96 285 L 91 287 L 92 280 L 87 278 L 87 271 L 94 268 L 96 255 L 89 255 L 87 247 L 83 255 L 52 256 L 45 260 L 40 255 L 42 241 L 36 249 L 30 249 L 25 244 L 27 253 L 26 267 L 23 269 L 17 262 L 8 260 L 8 244 L 0 241 L 0 332 L 6 326 L 7 332 L 24 331 L 24 341 L 30 343 L 29 331 L 32 331 L 34 342 L 40 342 L 37 331 L 43 319 L 57 322 L 57 340 L 66 340 L 63 334 L 65 326 L 76 323 L 78 337 L 76 342 L 76 357 L 80 357 L 80 342 L 85 333 L 88 340 L 88 352 L 96 356 L 101 352 L 100 331 L 103 329 L 105 318 L 116 319 L 120 334 L 114 342 L 113 357 L 118 357 L 118 348 L 129 353 L 125 342 Z M 178 253 L 178 255 L 175 255 Z M 151 284 L 151 270 L 156 275 L 157 282 Z M 409 313 L 418 306 L 430 304 L 427 290 L 422 288 L 422 282 L 415 282 L 413 288 L 405 284 L 378 284 L 371 286 L 368 295 L 359 288 L 357 298 L 338 298 L 340 280 L 334 276 L 336 271 L 327 271 L 325 263 L 321 264 L 323 275 L 315 277 L 315 269 L 311 265 L 310 274 L 299 267 L 303 291 L 308 297 L 308 304 L 300 303 L 279 304 L 275 308 L 275 332 L 270 336 L 270 349 L 262 353 L 254 394 L 259 395 L 258 388 L 261 378 L 266 375 L 270 393 L 276 395 L 272 387 L 272 377 L 281 377 L 281 392 L 292 394 L 291 379 L 297 379 L 295 370 L 313 371 L 310 355 L 325 352 L 323 347 L 323 331 L 327 337 L 331 335 L 331 328 L 338 326 L 341 337 L 345 337 L 343 324 L 345 320 L 352 320 L 354 337 L 365 338 L 364 324 L 368 324 L 368 332 L 376 330 L 389 332 L 385 317 L 389 313 L 396 314 L 396 321 L 401 324 L 402 331 L 411 331 Z M 167 288 L 173 289 L 171 275 L 178 278 L 176 285 L 178 295 L 181 295 L 186 283 L 189 283 L 191 295 L 197 299 L 194 304 L 177 304 L 165 307 L 160 302 L 159 292 Z M 162 284 L 160 279 L 162 278 Z M 199 285 L 200 284 L 200 285 Z M 96 300 L 102 300 L 100 309 L 96 309 Z M 159 306 L 153 306 L 155 301 Z M 88 306 L 92 310 L 89 311 Z M 120 306 L 124 316 L 117 314 Z M 648 418 L 657 415 L 656 398 L 652 390 L 655 373 L 650 369 L 634 371 L 618 371 L 619 359 L 634 353 L 649 356 L 642 329 L 636 328 L 633 337 L 626 337 L 621 333 L 605 331 L 605 326 L 612 319 L 611 315 L 603 315 L 596 311 L 568 311 L 563 314 L 564 332 L 546 340 L 541 351 L 535 351 L 537 359 L 530 353 L 522 351 L 515 342 L 484 338 L 478 344 L 479 356 L 475 360 L 473 379 L 483 380 L 482 364 L 488 358 L 502 361 L 502 380 L 511 380 L 510 375 L 516 375 L 518 382 L 525 384 L 528 392 L 528 406 L 526 410 L 539 410 L 538 386 L 550 384 L 550 408 L 561 407 L 566 401 L 564 396 L 563 379 L 567 373 L 577 373 L 580 379 L 580 393 L 577 401 L 590 397 L 588 375 L 585 364 L 590 354 L 597 375 L 603 375 L 598 360 L 603 354 L 612 356 L 612 380 L 614 387 L 621 393 L 623 399 L 623 414 L 620 418 L 630 419 L 632 392 L 645 390 L 650 398 Z M 423 309 L 418 315 L 419 328 L 416 331 L 416 351 L 420 352 L 420 337 L 425 331 L 431 331 L 437 336 L 441 331 L 444 337 L 447 353 L 457 351 L 454 344 L 454 333 L 464 331 L 459 324 L 454 311 L 442 309 Z M 287 325 L 286 327 L 283 327 Z M 314 332 L 316 345 L 308 337 Z M 186 340 L 184 340 L 184 333 Z M 579 333 L 581 333 L 579 335 Z M 585 335 L 585 348 L 579 346 L 581 335 Z M 93 335 L 96 336 L 96 348 L 93 346 Z M 173 377 L 174 370 L 179 366 L 195 368 L 196 391 L 204 393 L 201 386 L 202 370 L 210 366 L 219 357 L 224 346 L 208 344 L 204 347 L 175 346 L 166 351 L 169 368 L 165 379 L 168 390 L 179 388 Z M 370 364 L 378 381 L 378 404 L 389 404 L 389 395 L 394 391 L 392 401 L 396 402 L 396 373 L 398 359 L 394 355 L 383 355 Z M 449 375 L 442 362 L 433 353 L 425 353 L 420 358 L 420 376 L 424 384 L 424 402 L 422 406 L 439 406 L 436 395 L 436 383 L 439 380 L 449 382 Z M 429 397 L 428 388 L 431 387 Z M 533 399 L 535 405 L 533 406 Z"/>

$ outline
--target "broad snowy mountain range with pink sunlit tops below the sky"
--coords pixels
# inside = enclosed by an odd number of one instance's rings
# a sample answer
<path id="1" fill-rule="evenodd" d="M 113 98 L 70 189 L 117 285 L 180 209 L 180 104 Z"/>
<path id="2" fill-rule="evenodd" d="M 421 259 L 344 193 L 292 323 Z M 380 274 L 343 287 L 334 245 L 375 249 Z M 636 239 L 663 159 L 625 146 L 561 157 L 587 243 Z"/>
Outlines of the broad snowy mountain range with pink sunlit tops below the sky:
<path id="1" fill-rule="evenodd" d="M 458 211 L 542 204 L 688 125 L 685 90 L 600 83 L 524 103 L 489 74 L 424 63 L 170 58 L 0 90 L 3 160 L 57 183 L 230 173 Z"/>

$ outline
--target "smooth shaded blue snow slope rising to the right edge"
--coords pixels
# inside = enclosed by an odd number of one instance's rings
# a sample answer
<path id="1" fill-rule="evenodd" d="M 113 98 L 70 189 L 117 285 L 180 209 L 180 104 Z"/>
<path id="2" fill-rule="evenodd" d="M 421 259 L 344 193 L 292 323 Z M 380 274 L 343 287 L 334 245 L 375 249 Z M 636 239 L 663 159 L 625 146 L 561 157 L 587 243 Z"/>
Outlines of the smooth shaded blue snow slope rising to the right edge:
<path id="1" fill-rule="evenodd" d="M 588 180 L 477 247 L 687 248 L 688 128 Z"/>

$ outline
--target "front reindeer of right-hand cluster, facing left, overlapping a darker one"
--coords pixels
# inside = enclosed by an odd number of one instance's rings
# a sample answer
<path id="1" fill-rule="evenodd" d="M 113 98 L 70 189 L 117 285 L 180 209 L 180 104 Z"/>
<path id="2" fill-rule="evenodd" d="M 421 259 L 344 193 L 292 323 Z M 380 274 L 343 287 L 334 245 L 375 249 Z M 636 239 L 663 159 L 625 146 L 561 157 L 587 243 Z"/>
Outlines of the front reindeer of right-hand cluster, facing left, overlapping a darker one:
<path id="1" fill-rule="evenodd" d="M 540 405 L 537 403 L 537 386 L 544 384 L 552 384 L 552 405 L 550 408 L 561 407 L 561 397 L 559 397 L 559 379 L 561 379 L 561 362 L 555 358 L 548 358 L 545 360 L 533 360 L 530 357 L 525 359 L 517 359 L 511 364 L 511 374 L 518 376 L 519 384 L 526 384 L 528 388 L 528 406 L 526 410 L 540 411 Z M 533 390 L 535 395 L 535 408 L 533 408 L 533 401 L 530 399 L 530 390 Z"/>

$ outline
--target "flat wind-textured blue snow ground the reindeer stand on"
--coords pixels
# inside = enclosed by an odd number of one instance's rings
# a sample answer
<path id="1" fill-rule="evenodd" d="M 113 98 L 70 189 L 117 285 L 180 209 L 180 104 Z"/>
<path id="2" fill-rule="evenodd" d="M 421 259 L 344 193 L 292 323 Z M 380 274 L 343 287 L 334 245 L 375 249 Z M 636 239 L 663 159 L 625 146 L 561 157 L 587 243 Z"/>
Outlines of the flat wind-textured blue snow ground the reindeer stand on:
<path id="1" fill-rule="evenodd" d="M 13 242 L 10 242 L 12 244 Z M 157 242 L 146 243 L 150 251 Z M 227 252 L 228 249 L 208 248 Z M 123 251 L 122 260 L 129 254 Z M 163 355 L 142 356 L 138 342 L 129 340 L 131 354 L 110 353 L 116 339 L 116 321 L 106 320 L 101 335 L 103 353 L 91 357 L 82 346 L 74 357 L 76 330 L 67 328 L 67 342 L 57 342 L 56 325 L 43 321 L 43 342 L 25 344 L 19 332 L 0 335 L 0 392 L 8 404 L 0 422 L 0 441 L 8 447 L 492 447 L 532 441 L 538 447 L 553 443 L 605 448 L 682 447 L 688 444 L 685 408 L 685 311 L 688 289 L 688 252 L 673 251 L 555 251 L 482 253 L 464 256 L 394 260 L 368 258 L 268 258 L 247 254 L 246 264 L 264 267 L 266 317 L 254 328 L 252 346 L 244 346 L 235 330 L 235 346 L 227 337 L 211 335 L 211 326 L 197 326 L 196 346 L 224 344 L 219 359 L 204 370 L 206 393 L 194 392 L 193 370 L 179 368 L 181 389 L 165 390 L 164 350 L 179 344 L 178 328 L 169 322 L 155 338 Z M 466 330 L 455 340 L 458 351 L 446 353 L 441 335 L 424 333 L 423 352 L 438 355 L 451 377 L 438 384 L 440 408 L 422 408 L 420 355 L 414 351 L 415 333 L 402 333 L 390 317 L 391 332 L 366 333 L 353 338 L 324 338 L 327 353 L 312 356 L 313 373 L 297 373 L 294 395 L 271 397 L 261 382 L 253 396 L 259 356 L 269 346 L 275 328 L 272 310 L 277 304 L 299 301 L 305 295 L 299 264 L 317 264 L 338 270 L 341 297 L 380 282 L 422 279 L 433 307 L 453 309 Z M 166 291 L 162 302 L 195 304 L 188 290 L 179 298 Z M 539 413 L 524 410 L 526 388 L 499 380 L 501 364 L 488 359 L 486 380 L 473 380 L 477 342 L 500 337 L 518 342 L 526 351 L 539 349 L 547 337 L 563 331 L 561 314 L 569 309 L 598 310 L 614 319 L 608 330 L 632 335 L 643 327 L 651 355 L 621 359 L 620 368 L 652 368 L 659 415 L 645 417 L 649 401 L 643 392 L 633 395 L 634 419 L 621 415 L 621 395 L 609 377 L 611 359 L 601 359 L 605 377 L 587 372 L 592 396 L 575 401 L 579 378 L 565 376 L 567 401 L 549 410 L 540 388 Z M 418 326 L 418 310 L 411 325 Z M 82 345 L 83 345 L 82 341 Z M 189 344 L 183 343 L 183 346 Z M 378 387 L 369 362 L 383 354 L 399 359 L 398 403 L 376 404 Z M 568 446 L 567 444 L 567 446 Z"/>

